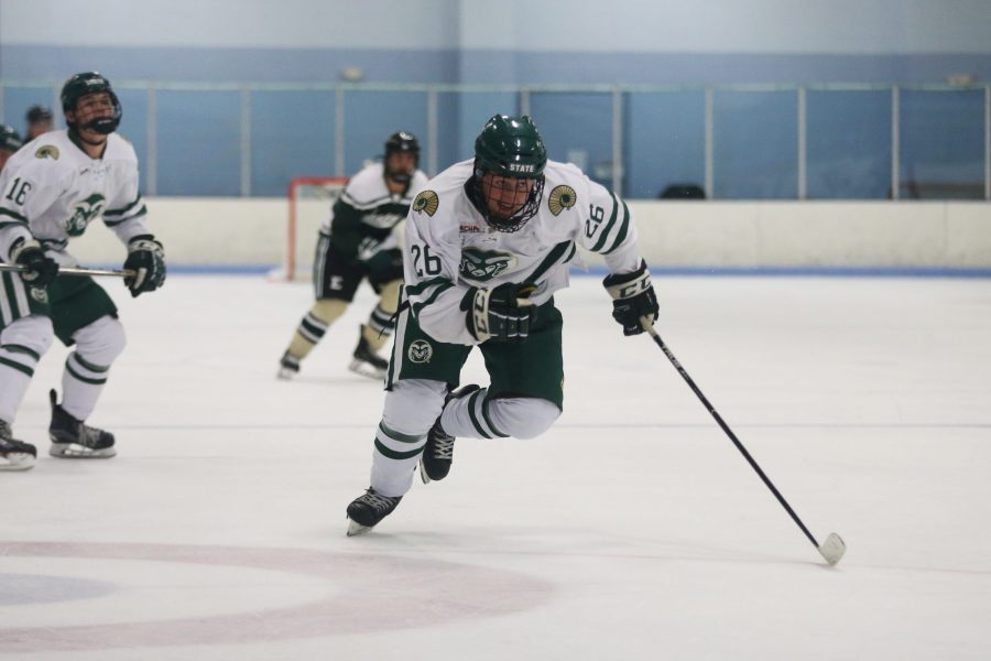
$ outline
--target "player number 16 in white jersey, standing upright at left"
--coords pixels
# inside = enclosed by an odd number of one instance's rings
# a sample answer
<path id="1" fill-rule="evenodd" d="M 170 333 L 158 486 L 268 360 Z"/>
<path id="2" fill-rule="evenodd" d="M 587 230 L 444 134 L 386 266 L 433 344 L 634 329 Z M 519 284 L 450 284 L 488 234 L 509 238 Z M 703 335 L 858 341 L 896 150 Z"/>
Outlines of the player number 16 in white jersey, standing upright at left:
<path id="1" fill-rule="evenodd" d="M 0 172 L 0 469 L 34 464 L 35 447 L 11 426 L 35 367 L 57 337 L 74 347 L 62 377 L 63 401 L 50 393 L 48 453 L 62 458 L 116 454 L 113 435 L 84 421 L 124 347 L 117 306 L 91 278 L 59 275 L 75 266 L 66 251 L 99 217 L 127 247 L 124 284 L 137 296 L 165 280 L 162 243 L 149 231 L 138 191 L 134 149 L 116 134 L 121 107 L 107 80 L 89 72 L 62 88 L 66 130 L 25 144 Z"/>

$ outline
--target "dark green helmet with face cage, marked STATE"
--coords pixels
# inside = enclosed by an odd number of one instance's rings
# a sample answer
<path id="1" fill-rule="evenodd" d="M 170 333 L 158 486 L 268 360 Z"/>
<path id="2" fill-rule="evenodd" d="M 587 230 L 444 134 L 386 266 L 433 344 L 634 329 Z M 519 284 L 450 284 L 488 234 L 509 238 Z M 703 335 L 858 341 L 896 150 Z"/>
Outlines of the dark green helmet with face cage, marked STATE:
<path id="1" fill-rule="evenodd" d="M 519 231 L 541 208 L 546 164 L 547 150 L 533 120 L 525 115 L 492 117 L 475 141 L 475 173 L 468 186 L 475 207 L 494 229 Z M 490 173 L 513 180 L 534 180 L 526 201 L 508 218 L 496 216 L 489 209 L 491 177 L 489 184 L 484 180 Z"/>

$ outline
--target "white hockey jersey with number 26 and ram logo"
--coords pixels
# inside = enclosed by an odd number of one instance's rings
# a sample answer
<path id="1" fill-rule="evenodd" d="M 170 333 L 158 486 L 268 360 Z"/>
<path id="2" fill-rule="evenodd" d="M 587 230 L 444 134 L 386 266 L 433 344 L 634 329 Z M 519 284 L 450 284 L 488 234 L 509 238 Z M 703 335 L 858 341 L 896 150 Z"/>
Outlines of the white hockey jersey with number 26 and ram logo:
<path id="1" fill-rule="evenodd" d="M 535 304 L 568 285 L 568 262 L 580 246 L 601 253 L 612 273 L 640 268 L 636 228 L 627 204 L 569 163 L 548 161 L 537 215 L 515 232 L 491 228 L 465 183 L 473 161 L 431 180 L 406 217 L 405 296 L 420 326 L 439 342 L 475 345 L 461 300 L 471 286 L 537 285 Z"/>

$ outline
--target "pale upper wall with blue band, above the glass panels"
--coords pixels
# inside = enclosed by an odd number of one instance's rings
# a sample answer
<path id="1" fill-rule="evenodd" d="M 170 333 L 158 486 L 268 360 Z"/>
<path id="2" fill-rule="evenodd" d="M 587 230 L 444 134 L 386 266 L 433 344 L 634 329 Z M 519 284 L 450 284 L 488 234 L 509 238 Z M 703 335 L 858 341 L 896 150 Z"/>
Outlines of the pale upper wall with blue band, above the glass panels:
<path id="1" fill-rule="evenodd" d="M 991 79 L 988 0 L 0 2 L 0 77 L 393 83 Z"/>

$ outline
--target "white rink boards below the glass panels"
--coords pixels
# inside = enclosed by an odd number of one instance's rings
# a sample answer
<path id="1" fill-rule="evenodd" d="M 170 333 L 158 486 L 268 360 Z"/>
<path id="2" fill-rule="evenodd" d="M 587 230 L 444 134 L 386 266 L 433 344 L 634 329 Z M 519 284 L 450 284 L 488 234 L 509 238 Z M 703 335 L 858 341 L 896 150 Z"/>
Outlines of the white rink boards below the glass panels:
<path id="1" fill-rule="evenodd" d="M 991 203 L 629 204 L 653 267 L 991 268 Z M 159 197 L 148 207 L 173 266 L 283 263 L 284 199 Z M 309 217 L 301 243 L 314 240 L 324 215 Z M 87 263 L 122 262 L 120 241 L 99 225 L 73 242 L 73 252 Z"/>

